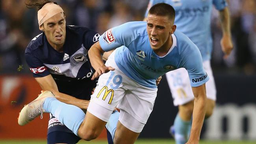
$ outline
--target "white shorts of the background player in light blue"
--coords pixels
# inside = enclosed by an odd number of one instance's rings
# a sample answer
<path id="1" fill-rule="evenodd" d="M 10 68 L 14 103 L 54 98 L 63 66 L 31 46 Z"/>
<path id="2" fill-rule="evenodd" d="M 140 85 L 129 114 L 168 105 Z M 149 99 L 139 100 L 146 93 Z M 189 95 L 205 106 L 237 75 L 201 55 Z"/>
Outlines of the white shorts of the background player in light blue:
<path id="1" fill-rule="evenodd" d="M 206 96 L 208 99 L 216 101 L 216 87 L 210 61 L 204 61 L 203 66 L 210 78 L 206 82 Z M 174 106 L 183 105 L 194 99 L 189 76 L 185 68 L 168 72 L 166 78 L 173 96 Z"/>

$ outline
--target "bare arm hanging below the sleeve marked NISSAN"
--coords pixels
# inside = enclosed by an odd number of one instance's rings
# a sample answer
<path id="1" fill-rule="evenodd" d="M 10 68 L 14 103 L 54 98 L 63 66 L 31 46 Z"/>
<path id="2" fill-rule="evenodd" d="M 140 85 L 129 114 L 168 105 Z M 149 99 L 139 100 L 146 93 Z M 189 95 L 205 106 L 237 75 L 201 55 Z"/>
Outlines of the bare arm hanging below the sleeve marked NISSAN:
<path id="1" fill-rule="evenodd" d="M 193 121 L 190 132 L 189 140 L 186 144 L 198 144 L 200 138 L 200 132 L 204 122 L 204 116 L 206 112 L 206 87 L 205 84 L 199 87 L 192 87 L 193 94 L 195 96 L 194 109 L 193 109 Z"/>

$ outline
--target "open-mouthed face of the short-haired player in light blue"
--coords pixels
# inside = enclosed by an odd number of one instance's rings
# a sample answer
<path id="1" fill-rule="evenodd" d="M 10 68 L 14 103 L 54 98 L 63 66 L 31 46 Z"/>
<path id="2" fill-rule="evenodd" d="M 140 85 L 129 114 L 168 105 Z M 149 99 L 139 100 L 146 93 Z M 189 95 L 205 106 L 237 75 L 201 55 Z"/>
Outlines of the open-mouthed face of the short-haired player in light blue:
<path id="1" fill-rule="evenodd" d="M 176 28 L 172 23 L 168 16 L 148 14 L 147 32 L 150 46 L 153 50 L 169 47 L 172 44 L 171 34 L 174 33 Z"/>

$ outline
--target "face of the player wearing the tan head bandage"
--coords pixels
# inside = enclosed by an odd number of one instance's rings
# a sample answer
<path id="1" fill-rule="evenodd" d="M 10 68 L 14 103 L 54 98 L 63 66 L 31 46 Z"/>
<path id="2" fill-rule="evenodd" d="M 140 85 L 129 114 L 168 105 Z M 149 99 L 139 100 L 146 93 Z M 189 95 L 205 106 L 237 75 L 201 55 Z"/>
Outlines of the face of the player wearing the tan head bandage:
<path id="1" fill-rule="evenodd" d="M 64 13 L 58 13 L 46 20 L 40 30 L 45 32 L 51 46 L 63 46 L 66 38 L 66 20 Z"/>

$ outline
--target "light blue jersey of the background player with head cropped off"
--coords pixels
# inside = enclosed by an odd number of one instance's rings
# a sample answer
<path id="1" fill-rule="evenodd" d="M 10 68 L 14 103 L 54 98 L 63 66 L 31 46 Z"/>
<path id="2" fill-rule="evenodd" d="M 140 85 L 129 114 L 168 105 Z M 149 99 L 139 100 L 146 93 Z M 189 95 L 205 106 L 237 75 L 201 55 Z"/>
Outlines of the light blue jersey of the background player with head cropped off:
<path id="1" fill-rule="evenodd" d="M 177 30 L 186 34 L 197 45 L 203 61 L 209 60 L 212 51 L 211 9 L 213 5 L 218 10 L 224 9 L 227 6 L 226 0 L 150 0 L 145 17 L 150 7 L 161 2 L 173 6 Z"/>

